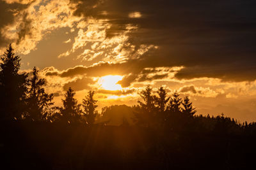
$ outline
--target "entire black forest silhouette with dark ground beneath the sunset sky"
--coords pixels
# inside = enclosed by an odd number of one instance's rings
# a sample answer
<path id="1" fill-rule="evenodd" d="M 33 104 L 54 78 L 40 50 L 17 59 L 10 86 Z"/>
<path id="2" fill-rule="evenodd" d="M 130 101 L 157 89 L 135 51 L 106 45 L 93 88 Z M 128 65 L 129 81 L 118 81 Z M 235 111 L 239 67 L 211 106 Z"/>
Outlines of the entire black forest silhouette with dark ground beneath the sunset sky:
<path id="1" fill-rule="evenodd" d="M 19 73 L 12 45 L 0 62 L 0 152 L 3 169 L 247 169 L 255 166 L 256 124 L 221 114 L 197 115 L 189 97 L 156 94 L 135 106 L 97 111 L 94 91 L 79 104 L 70 87 L 53 103 L 33 68 Z M 119 120 L 122 120 L 121 122 Z M 2 168 L 1 168 L 2 169 Z"/>

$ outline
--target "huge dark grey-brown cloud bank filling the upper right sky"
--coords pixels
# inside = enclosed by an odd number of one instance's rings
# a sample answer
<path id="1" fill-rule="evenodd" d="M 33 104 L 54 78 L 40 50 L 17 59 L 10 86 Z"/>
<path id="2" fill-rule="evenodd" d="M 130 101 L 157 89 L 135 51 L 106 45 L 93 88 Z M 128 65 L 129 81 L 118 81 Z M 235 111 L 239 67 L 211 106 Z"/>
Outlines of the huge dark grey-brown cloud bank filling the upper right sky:
<path id="1" fill-rule="evenodd" d="M 120 34 L 125 25 L 132 24 L 139 28 L 129 34 L 133 45 L 159 46 L 141 56 L 144 60 L 140 71 L 147 66 L 184 66 L 177 78 L 256 79 L 256 1 L 79 2 L 76 15 L 107 18 L 111 22 L 108 36 Z M 141 17 L 129 18 L 134 11 L 140 12 Z M 136 67 L 132 68 L 130 73 L 136 71 Z"/>

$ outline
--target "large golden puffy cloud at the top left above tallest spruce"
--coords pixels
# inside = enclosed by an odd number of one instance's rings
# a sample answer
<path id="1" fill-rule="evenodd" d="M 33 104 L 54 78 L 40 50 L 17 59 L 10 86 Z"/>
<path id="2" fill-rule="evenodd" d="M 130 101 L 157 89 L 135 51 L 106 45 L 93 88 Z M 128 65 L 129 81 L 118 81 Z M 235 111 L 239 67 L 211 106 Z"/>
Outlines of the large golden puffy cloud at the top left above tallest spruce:
<path id="1" fill-rule="evenodd" d="M 16 4 L 15 2 L 17 1 L 8 1 L 10 5 Z M 73 15 L 74 4 L 68 0 L 35 0 L 19 3 L 29 4 L 26 8 L 16 10 L 13 22 L 1 27 L 1 34 L 4 39 L 13 42 L 15 49 L 22 54 L 35 50 L 38 42 L 49 32 L 61 27 L 72 27 L 75 22 L 81 20 Z"/>

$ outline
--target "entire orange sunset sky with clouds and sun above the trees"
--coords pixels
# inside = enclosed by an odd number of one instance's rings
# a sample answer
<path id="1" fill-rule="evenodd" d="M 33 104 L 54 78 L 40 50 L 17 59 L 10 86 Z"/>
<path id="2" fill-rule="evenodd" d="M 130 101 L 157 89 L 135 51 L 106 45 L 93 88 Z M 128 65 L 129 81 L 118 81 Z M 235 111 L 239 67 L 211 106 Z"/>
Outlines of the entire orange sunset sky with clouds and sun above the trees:
<path id="1" fill-rule="evenodd" d="M 68 87 L 99 109 L 143 87 L 189 96 L 198 114 L 256 121 L 256 1 L 0 0 L 0 52 L 36 66 L 54 102 Z"/>

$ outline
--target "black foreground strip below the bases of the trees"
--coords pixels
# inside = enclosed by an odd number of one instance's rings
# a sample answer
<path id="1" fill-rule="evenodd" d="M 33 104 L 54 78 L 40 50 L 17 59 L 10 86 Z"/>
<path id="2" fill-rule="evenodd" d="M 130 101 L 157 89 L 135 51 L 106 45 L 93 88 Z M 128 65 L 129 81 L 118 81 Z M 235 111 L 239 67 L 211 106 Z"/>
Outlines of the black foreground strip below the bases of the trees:
<path id="1" fill-rule="evenodd" d="M 248 169 L 252 133 L 1 124 L 1 169 Z"/>

